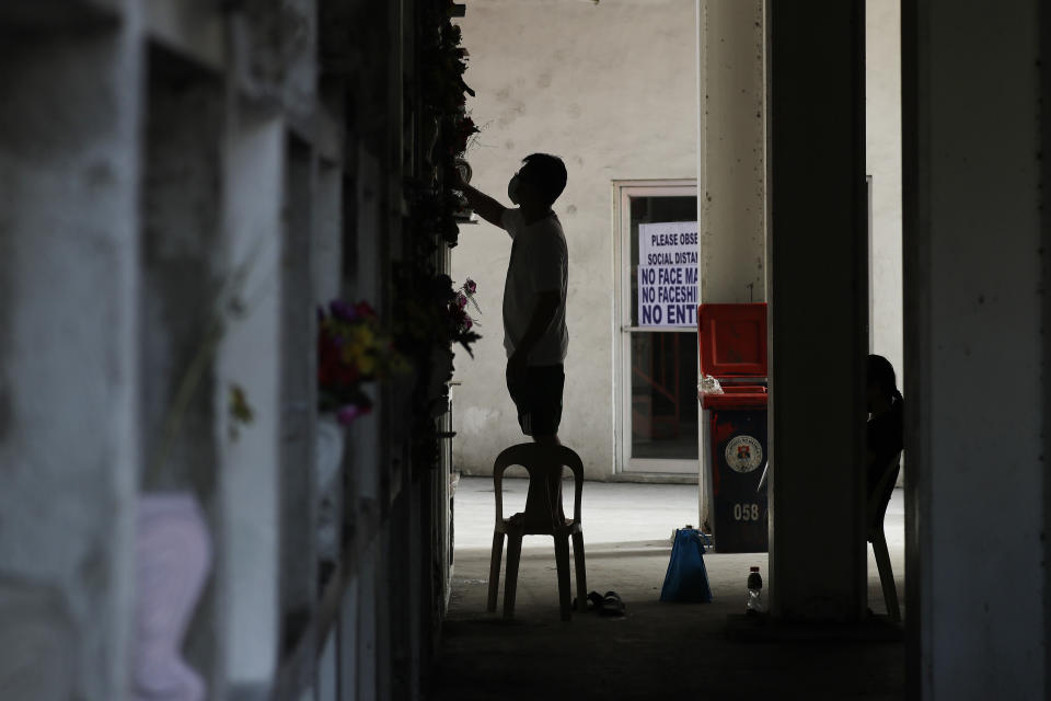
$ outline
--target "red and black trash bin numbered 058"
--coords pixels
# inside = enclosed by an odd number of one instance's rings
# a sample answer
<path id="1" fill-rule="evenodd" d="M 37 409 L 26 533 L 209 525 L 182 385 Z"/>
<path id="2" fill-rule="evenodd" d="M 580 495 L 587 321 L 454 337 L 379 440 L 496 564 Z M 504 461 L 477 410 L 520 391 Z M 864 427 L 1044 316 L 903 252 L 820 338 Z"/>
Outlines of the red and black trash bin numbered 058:
<path id="1" fill-rule="evenodd" d="M 698 394 L 706 438 L 702 499 L 715 549 L 765 552 L 766 304 L 701 304 L 697 352 L 701 372 L 723 388 Z"/>

